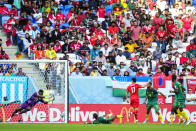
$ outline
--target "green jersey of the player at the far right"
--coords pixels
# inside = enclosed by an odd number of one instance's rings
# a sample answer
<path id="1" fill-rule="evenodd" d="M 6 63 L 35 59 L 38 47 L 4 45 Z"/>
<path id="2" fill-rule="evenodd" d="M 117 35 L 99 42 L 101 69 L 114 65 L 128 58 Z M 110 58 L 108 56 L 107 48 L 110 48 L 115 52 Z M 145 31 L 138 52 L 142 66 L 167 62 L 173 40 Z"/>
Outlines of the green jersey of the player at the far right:
<path id="1" fill-rule="evenodd" d="M 177 90 L 177 92 L 175 92 L 175 98 L 176 100 L 185 100 L 185 90 L 183 85 L 179 82 L 176 81 L 174 82 L 174 90 Z"/>

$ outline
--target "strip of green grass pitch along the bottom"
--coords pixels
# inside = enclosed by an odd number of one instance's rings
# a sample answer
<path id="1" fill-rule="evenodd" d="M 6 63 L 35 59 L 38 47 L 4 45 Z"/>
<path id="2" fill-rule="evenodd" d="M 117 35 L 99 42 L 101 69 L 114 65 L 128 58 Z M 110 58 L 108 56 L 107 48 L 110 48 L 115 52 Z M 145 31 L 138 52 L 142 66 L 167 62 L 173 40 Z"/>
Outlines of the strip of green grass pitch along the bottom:
<path id="1" fill-rule="evenodd" d="M 185 124 L 38 124 L 38 123 L 1 123 L 0 131 L 196 131 L 196 123 Z"/>

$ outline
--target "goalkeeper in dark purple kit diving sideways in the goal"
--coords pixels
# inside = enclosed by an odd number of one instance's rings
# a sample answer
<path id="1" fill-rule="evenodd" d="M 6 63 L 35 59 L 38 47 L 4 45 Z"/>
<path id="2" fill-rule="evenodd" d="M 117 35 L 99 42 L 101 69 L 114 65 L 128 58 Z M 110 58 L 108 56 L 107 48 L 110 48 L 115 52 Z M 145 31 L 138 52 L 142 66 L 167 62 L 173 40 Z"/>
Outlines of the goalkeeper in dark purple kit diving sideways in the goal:
<path id="1" fill-rule="evenodd" d="M 11 117 L 7 120 L 7 122 L 11 121 L 15 115 L 23 114 L 23 113 L 30 111 L 38 102 L 48 104 L 47 101 L 43 100 L 45 98 L 43 96 L 43 93 L 44 93 L 44 91 L 41 89 L 38 92 L 35 92 L 28 100 L 26 100 L 24 103 L 22 103 L 21 106 L 19 106 L 19 108 L 17 108 L 12 113 Z"/>

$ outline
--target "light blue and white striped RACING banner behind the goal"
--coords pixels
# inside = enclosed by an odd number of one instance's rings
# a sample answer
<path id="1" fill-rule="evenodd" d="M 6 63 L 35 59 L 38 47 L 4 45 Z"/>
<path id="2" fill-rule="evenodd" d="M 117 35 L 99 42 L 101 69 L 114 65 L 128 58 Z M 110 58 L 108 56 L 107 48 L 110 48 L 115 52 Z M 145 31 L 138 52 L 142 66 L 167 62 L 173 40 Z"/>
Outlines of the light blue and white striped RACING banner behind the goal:
<path id="1" fill-rule="evenodd" d="M 27 77 L 0 76 L 0 103 L 7 96 L 9 101 L 26 100 Z"/>

